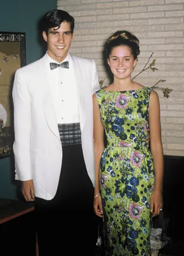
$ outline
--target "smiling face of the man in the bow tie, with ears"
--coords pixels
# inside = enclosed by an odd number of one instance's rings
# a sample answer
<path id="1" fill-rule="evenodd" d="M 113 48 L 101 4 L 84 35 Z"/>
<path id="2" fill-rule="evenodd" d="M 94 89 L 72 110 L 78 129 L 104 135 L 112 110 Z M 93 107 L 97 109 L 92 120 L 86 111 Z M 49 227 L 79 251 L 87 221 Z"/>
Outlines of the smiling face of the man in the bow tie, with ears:
<path id="1" fill-rule="evenodd" d="M 48 55 L 56 62 L 62 62 L 68 54 L 74 33 L 71 32 L 70 23 L 62 22 L 60 27 L 50 28 L 48 36 L 43 32 L 45 42 L 47 42 Z"/>

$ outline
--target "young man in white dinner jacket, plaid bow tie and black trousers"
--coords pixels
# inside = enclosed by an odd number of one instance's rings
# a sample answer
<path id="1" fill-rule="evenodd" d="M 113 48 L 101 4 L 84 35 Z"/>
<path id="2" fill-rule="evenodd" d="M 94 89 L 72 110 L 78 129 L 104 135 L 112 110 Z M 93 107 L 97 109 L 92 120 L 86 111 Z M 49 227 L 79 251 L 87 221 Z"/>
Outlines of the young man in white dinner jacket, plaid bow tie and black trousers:
<path id="1" fill-rule="evenodd" d="M 51 10 L 42 25 L 46 54 L 14 80 L 16 179 L 26 201 L 34 201 L 39 256 L 93 255 L 97 69 L 68 53 L 74 18 L 67 12 Z"/>

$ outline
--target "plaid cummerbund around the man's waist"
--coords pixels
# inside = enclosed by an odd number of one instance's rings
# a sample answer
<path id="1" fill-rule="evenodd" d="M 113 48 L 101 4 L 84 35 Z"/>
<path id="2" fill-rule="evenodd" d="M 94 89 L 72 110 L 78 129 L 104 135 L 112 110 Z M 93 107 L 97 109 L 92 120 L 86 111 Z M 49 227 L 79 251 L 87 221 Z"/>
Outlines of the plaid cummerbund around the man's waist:
<path id="1" fill-rule="evenodd" d="M 59 123 L 58 129 L 62 146 L 82 143 L 80 123 Z"/>

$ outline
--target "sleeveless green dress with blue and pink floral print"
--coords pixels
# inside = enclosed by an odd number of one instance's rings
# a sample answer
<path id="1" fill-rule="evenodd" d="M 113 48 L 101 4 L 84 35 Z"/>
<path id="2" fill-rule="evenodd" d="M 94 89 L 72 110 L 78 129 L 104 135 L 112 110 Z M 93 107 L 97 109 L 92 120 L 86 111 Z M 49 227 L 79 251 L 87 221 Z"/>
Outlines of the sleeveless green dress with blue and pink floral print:
<path id="1" fill-rule="evenodd" d="M 150 199 L 154 165 L 146 146 L 152 89 L 96 92 L 107 145 L 101 156 L 99 186 L 108 255 L 151 255 Z"/>

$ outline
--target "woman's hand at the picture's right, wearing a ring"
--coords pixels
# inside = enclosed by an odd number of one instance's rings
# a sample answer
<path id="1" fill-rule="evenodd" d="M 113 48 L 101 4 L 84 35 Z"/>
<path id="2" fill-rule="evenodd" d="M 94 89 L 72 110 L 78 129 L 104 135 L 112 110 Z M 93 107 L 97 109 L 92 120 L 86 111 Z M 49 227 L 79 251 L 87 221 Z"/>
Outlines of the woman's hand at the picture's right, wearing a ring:
<path id="1" fill-rule="evenodd" d="M 155 217 L 160 213 L 160 209 L 162 209 L 162 192 L 154 191 L 151 195 L 151 205 L 150 211 L 152 213 L 152 217 Z"/>

